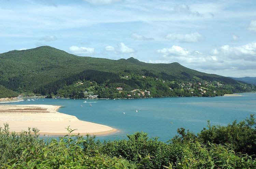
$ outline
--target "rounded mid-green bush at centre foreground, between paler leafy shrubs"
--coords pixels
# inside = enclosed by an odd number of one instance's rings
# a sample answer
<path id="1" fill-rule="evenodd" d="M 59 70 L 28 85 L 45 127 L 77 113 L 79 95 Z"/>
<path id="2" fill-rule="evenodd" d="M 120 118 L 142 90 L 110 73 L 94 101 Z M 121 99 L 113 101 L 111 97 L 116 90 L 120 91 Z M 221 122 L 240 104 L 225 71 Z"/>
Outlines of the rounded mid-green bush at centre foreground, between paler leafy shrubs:
<path id="1" fill-rule="evenodd" d="M 111 157 L 123 157 L 133 164 L 138 164 L 143 158 L 151 157 L 151 160 L 145 161 L 145 168 L 162 168 L 169 162 L 177 161 L 177 154 L 182 153 L 180 146 L 167 145 L 157 140 L 157 138 L 148 138 L 147 133 L 136 132 L 127 135 L 128 140 L 115 140 L 113 142 L 95 142 L 95 137 L 87 136 L 87 142 L 84 142 L 85 151 L 88 148 L 97 150 Z M 143 167 L 143 168 L 144 168 Z"/>

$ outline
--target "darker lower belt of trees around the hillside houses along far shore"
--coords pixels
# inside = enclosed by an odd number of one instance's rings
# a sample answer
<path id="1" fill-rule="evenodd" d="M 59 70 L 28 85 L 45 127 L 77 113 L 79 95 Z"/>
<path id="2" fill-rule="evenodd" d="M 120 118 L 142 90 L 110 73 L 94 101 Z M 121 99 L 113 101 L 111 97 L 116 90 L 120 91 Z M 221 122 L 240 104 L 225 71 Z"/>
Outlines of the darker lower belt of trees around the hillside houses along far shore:
<path id="1" fill-rule="evenodd" d="M 123 73 L 126 75 L 128 70 Z M 206 94 L 200 94 L 198 88 L 201 86 L 197 85 L 197 80 L 190 77 L 186 72 L 182 72 L 180 79 L 174 79 L 173 75 L 169 75 L 164 72 L 160 72 L 160 77 L 152 73 L 151 71 L 142 70 L 146 78 L 142 78 L 141 75 L 129 73 L 129 78 L 121 78 L 119 75 L 110 72 L 96 71 L 96 70 L 85 70 L 83 72 L 71 75 L 66 78 L 62 78 L 56 81 L 49 82 L 46 85 L 42 85 L 34 89 L 34 93 L 40 93 L 41 95 L 57 95 L 62 93 L 62 97 L 70 98 L 83 98 L 81 92 L 84 89 L 74 88 L 72 91 L 60 92 L 61 89 L 65 89 L 66 86 L 72 86 L 77 81 L 93 81 L 96 82 L 94 94 L 99 95 L 99 98 L 140 98 L 140 97 L 172 97 L 172 96 L 222 96 L 224 94 L 232 94 L 239 92 L 250 92 L 253 89 L 253 85 L 249 84 L 225 84 L 221 87 L 214 87 L 207 90 Z M 158 78 L 156 78 L 158 77 Z M 191 78 L 189 80 L 184 80 Z M 203 77 L 202 77 L 203 78 Z M 164 80 L 166 81 L 164 81 Z M 229 78 L 224 78 L 224 80 Z M 231 81 L 236 82 L 233 79 Z M 171 83 L 175 81 L 175 83 Z M 166 83 L 165 83 L 166 82 Z M 181 83 L 192 82 L 193 89 L 195 91 L 186 90 L 181 88 Z M 232 83 L 232 82 L 230 82 Z M 119 93 L 115 88 L 122 87 L 123 92 Z M 172 90 L 170 90 L 172 88 Z M 151 95 L 139 96 L 136 93 L 129 93 L 134 89 L 149 90 Z M 215 91 L 215 92 L 214 92 Z M 139 93 L 138 93 L 139 94 Z M 131 95 L 131 96 L 127 96 Z"/>

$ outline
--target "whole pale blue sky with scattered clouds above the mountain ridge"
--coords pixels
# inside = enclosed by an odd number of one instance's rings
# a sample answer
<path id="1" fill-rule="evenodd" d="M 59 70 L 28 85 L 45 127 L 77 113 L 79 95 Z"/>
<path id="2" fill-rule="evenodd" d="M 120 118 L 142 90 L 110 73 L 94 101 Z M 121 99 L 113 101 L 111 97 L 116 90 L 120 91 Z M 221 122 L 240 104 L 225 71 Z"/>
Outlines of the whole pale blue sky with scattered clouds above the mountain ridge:
<path id="1" fill-rule="evenodd" d="M 0 53 L 43 45 L 256 77 L 256 1 L 0 0 Z"/>

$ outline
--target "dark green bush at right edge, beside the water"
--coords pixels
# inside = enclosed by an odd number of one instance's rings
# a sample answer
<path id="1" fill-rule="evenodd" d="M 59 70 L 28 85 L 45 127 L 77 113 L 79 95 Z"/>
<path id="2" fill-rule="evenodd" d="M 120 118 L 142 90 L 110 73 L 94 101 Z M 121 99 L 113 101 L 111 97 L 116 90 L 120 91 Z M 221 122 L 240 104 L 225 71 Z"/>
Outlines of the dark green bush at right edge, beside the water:
<path id="1" fill-rule="evenodd" d="M 237 123 L 235 120 L 228 126 L 211 126 L 198 134 L 198 140 L 204 144 L 231 144 L 235 152 L 256 154 L 256 121 L 252 114 L 246 121 Z"/>

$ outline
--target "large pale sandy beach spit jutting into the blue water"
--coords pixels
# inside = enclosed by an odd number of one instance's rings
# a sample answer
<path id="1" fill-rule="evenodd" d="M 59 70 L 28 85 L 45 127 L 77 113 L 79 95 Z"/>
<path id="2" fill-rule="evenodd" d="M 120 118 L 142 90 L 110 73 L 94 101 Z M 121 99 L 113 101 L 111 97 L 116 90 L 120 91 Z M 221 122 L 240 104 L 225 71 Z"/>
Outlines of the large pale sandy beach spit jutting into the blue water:
<path id="1" fill-rule="evenodd" d="M 45 135 L 66 135 L 67 128 L 77 129 L 73 134 L 104 135 L 116 132 L 117 130 L 96 123 L 82 121 L 76 116 L 59 113 L 60 106 L 53 105 L 0 105 L 0 126 L 8 123 L 10 131 L 28 131 L 30 128 L 38 128 L 40 134 Z"/>

